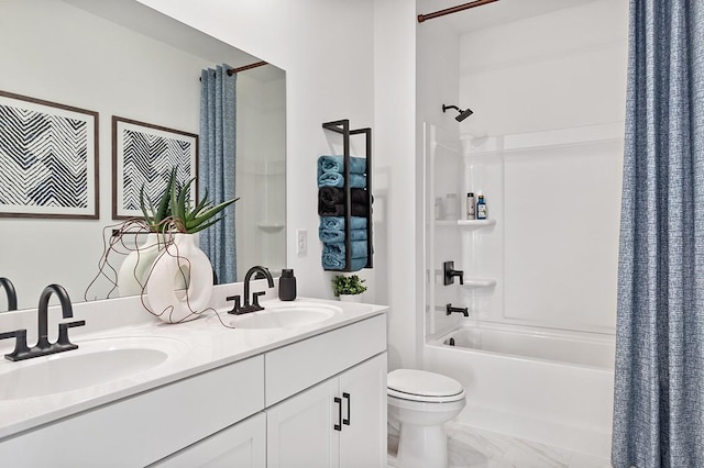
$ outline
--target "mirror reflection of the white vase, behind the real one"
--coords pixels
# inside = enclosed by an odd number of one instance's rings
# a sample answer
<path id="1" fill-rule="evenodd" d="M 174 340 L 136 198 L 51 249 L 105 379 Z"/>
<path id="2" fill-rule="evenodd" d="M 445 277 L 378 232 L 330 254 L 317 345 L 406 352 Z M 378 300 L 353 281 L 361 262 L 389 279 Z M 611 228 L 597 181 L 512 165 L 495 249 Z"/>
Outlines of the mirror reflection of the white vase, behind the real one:
<path id="1" fill-rule="evenodd" d="M 118 271 L 118 291 L 121 297 L 142 294 L 146 288 L 152 265 L 163 248 L 164 236 L 148 233 L 146 241 L 124 258 Z"/>

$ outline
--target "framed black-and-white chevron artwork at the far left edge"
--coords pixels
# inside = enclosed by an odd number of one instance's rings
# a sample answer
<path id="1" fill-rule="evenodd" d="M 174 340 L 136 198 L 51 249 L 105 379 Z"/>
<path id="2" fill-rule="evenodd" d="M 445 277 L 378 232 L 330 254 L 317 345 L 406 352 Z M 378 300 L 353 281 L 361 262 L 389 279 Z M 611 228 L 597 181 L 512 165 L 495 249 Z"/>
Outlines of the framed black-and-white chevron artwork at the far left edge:
<path id="1" fill-rule="evenodd" d="M 98 113 L 0 91 L 0 216 L 98 219 Z"/>

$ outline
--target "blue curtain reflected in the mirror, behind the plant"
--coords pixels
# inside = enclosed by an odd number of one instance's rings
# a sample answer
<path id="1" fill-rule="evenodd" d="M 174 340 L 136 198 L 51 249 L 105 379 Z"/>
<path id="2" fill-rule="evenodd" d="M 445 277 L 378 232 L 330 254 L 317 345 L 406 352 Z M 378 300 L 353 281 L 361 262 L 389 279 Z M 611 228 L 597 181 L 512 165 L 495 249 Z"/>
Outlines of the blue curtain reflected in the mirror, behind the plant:
<path id="1" fill-rule="evenodd" d="M 235 198 L 237 74 L 227 65 L 200 74 L 199 197 L 208 191 L 215 204 Z M 208 255 L 219 283 L 237 281 L 234 210 L 200 233 L 200 248 Z"/>

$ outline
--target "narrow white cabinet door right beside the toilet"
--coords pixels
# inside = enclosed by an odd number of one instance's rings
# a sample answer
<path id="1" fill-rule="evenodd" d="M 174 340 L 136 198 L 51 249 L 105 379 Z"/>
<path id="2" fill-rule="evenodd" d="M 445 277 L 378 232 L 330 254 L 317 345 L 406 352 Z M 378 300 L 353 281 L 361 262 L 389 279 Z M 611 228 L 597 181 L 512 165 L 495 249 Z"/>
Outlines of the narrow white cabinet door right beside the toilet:
<path id="1" fill-rule="evenodd" d="M 339 391 L 340 467 L 386 467 L 386 353 L 340 375 Z"/>

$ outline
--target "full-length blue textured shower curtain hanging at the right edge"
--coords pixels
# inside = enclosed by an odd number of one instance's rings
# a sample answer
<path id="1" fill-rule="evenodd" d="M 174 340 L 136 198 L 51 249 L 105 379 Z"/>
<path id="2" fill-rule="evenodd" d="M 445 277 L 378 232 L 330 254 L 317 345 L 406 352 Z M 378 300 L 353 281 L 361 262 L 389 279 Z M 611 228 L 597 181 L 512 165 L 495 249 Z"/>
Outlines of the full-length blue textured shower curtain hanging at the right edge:
<path id="1" fill-rule="evenodd" d="M 631 0 L 614 467 L 704 467 L 704 1 Z"/>

